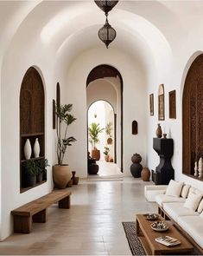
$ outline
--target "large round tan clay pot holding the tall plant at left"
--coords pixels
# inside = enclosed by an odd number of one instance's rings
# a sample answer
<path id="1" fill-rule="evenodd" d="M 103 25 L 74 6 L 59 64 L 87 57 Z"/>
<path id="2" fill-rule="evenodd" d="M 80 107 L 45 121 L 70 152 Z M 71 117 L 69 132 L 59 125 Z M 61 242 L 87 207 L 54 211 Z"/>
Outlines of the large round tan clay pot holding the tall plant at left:
<path id="1" fill-rule="evenodd" d="M 72 172 L 68 165 L 55 165 L 53 167 L 53 180 L 57 188 L 67 187 L 68 181 L 71 180 Z"/>

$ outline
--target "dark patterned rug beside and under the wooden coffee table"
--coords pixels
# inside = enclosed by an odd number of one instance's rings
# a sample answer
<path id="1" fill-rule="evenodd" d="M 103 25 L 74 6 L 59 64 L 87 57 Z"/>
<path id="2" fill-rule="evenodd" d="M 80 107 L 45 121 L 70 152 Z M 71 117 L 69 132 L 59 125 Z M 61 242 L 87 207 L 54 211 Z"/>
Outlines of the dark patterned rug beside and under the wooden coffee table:
<path id="1" fill-rule="evenodd" d="M 146 255 L 140 240 L 136 236 L 136 222 L 122 222 L 122 224 L 132 255 Z"/>

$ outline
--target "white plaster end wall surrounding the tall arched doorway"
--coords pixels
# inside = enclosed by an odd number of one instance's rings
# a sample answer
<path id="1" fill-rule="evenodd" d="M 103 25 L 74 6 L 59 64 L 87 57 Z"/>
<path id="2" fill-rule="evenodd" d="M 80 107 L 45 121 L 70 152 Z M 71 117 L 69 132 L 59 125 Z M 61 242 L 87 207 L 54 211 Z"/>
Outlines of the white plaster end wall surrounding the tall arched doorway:
<path id="1" fill-rule="evenodd" d="M 119 49 L 92 49 L 84 52 L 67 70 L 67 102 L 72 102 L 77 126 L 70 127 L 70 134 L 77 138 L 76 146 L 68 148 L 68 162 L 80 177 L 86 177 L 86 78 L 90 71 L 100 64 L 115 67 L 124 80 L 124 174 L 130 174 L 130 158 L 134 153 L 146 158 L 146 113 L 143 99 L 147 99 L 147 87 L 139 63 Z M 77 85 L 77 86 L 76 86 Z M 138 122 L 138 135 L 131 135 L 131 121 Z M 119 143 L 119 141 L 118 141 Z"/>

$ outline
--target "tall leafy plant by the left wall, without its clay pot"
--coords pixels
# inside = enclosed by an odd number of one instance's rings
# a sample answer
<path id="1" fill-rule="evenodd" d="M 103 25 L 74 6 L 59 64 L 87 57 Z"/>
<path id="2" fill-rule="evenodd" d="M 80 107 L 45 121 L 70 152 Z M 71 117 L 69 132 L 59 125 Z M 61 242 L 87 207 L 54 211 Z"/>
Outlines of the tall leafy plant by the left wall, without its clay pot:
<path id="1" fill-rule="evenodd" d="M 67 146 L 72 146 L 72 142 L 76 141 L 73 136 L 68 137 L 67 128 L 76 118 L 69 114 L 73 108 L 73 104 L 66 104 L 56 106 L 55 114 L 57 116 L 56 133 L 57 133 L 57 160 L 58 165 L 63 164 L 64 155 L 67 150 Z M 64 126 L 64 127 L 63 127 Z"/>

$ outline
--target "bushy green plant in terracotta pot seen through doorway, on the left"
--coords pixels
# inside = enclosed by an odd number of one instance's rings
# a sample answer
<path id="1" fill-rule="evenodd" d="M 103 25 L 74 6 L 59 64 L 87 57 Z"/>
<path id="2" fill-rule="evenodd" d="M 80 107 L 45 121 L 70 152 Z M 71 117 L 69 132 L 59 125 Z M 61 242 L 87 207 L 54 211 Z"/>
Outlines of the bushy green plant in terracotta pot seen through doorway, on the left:
<path id="1" fill-rule="evenodd" d="M 99 143 L 98 135 L 102 133 L 104 128 L 99 127 L 99 123 L 92 122 L 88 128 L 89 141 L 92 144 L 92 158 L 96 158 L 96 161 L 100 159 L 100 151 L 96 147 Z"/>

